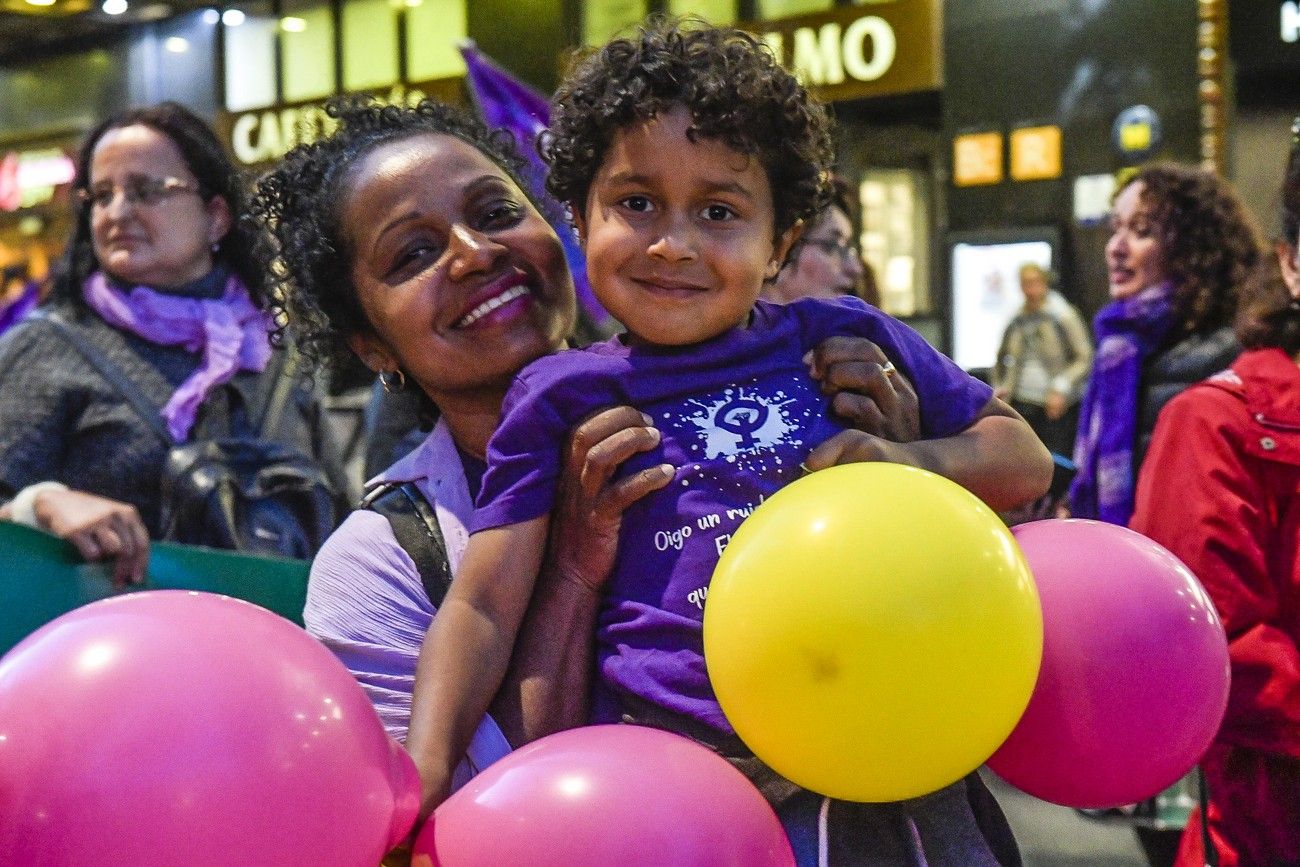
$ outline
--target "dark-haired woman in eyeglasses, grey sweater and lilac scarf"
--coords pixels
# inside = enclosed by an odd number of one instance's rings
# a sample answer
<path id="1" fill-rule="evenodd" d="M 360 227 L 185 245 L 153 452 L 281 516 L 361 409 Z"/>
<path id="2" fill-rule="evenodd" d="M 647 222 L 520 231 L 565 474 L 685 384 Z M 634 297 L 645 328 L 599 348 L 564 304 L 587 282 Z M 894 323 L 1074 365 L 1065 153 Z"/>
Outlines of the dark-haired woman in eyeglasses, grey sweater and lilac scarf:
<path id="1" fill-rule="evenodd" d="M 160 536 L 168 448 L 66 334 L 129 378 L 160 408 L 170 438 L 186 442 L 204 429 L 220 386 L 229 382 L 246 407 L 263 394 L 280 370 L 274 322 L 254 235 L 240 224 L 238 175 L 183 107 L 100 123 L 78 155 L 74 191 L 75 224 L 46 316 L 0 341 L 0 519 L 49 530 L 87 560 L 112 560 L 116 581 L 134 582 Z M 277 435 L 318 455 L 317 412 L 296 387 Z"/>

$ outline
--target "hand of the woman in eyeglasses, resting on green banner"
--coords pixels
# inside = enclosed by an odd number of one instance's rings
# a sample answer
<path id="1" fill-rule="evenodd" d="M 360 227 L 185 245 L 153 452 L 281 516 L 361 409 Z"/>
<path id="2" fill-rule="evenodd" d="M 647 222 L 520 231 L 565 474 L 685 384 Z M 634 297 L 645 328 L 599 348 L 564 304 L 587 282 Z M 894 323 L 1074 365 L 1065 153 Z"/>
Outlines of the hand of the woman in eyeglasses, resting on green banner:
<path id="1" fill-rule="evenodd" d="M 36 521 L 72 542 L 87 560 L 113 560 L 113 582 L 140 584 L 150 563 L 150 534 L 130 503 L 78 490 L 44 490 Z"/>

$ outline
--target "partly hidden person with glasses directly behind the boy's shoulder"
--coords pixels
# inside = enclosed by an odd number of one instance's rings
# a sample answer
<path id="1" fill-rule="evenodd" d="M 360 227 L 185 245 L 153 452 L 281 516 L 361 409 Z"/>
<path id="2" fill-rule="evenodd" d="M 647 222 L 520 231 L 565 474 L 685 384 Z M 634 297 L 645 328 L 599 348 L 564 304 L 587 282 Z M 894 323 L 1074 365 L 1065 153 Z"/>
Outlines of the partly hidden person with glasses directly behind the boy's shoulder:
<path id="1" fill-rule="evenodd" d="M 764 299 L 786 304 L 801 298 L 855 295 L 880 305 L 875 274 L 854 242 L 853 201 L 853 187 L 832 175 L 831 203 L 811 220 L 776 277 L 763 285 Z"/>

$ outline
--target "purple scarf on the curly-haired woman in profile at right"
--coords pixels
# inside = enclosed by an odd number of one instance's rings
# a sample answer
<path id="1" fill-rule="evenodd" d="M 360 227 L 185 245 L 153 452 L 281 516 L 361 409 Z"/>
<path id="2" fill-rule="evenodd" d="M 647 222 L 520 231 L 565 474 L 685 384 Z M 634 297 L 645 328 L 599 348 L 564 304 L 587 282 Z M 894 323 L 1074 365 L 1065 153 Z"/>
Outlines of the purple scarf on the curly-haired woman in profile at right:
<path id="1" fill-rule="evenodd" d="M 1074 517 L 1128 524 L 1136 487 L 1134 445 L 1141 368 L 1174 324 L 1173 296 L 1173 287 L 1161 283 L 1112 302 L 1097 313 L 1097 357 L 1074 443 L 1079 467 L 1070 486 Z"/>

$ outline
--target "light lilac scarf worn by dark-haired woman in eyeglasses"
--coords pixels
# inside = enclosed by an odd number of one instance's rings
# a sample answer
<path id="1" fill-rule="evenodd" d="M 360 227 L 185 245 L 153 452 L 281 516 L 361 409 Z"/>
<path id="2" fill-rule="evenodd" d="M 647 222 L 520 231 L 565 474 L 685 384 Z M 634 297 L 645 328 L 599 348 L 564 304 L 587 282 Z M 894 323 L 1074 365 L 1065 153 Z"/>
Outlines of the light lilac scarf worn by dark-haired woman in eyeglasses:
<path id="1" fill-rule="evenodd" d="M 168 295 L 144 286 L 122 292 L 95 272 L 82 286 L 91 309 L 109 325 L 151 343 L 203 352 L 203 361 L 162 407 L 162 420 L 177 442 L 190 435 L 199 406 L 214 386 L 240 370 L 260 373 L 270 360 L 272 320 L 231 277 L 220 299 Z"/>

